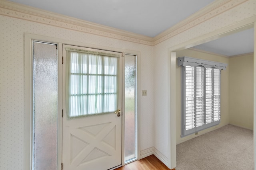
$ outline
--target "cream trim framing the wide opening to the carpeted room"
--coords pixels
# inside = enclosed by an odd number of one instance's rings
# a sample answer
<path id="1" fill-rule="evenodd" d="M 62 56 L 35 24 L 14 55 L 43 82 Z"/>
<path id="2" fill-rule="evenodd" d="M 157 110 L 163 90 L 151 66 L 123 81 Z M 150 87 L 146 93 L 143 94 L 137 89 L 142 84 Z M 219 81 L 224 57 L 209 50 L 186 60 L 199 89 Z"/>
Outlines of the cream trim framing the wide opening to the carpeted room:
<path id="1" fill-rule="evenodd" d="M 220 38 L 220 37 L 223 37 L 225 35 L 230 35 L 231 33 L 236 33 L 238 31 L 241 31 L 241 30 L 244 30 L 244 29 L 248 29 L 248 28 L 252 28 L 254 27 L 254 33 L 255 33 L 255 26 L 256 24 L 254 23 L 254 20 L 253 19 L 248 19 L 246 21 L 244 21 L 243 23 L 237 23 L 236 25 L 232 25 L 232 26 L 229 26 L 229 27 L 225 27 L 225 28 L 222 28 L 220 30 L 216 30 L 212 33 L 209 33 L 207 35 L 203 35 L 201 37 L 198 37 L 197 39 L 194 39 L 193 41 L 187 41 L 187 42 L 184 42 L 180 45 L 176 45 L 174 47 L 171 47 L 169 48 L 169 54 L 170 54 L 170 86 L 171 86 L 171 90 L 170 90 L 170 93 L 172 95 L 170 95 L 170 100 L 172 101 L 170 106 L 173 106 L 171 107 L 171 114 L 170 114 L 170 136 L 169 136 L 169 139 L 170 139 L 170 153 L 171 153 L 171 156 L 170 156 L 170 164 L 171 164 L 171 168 L 174 168 L 176 166 L 176 102 L 175 102 L 175 96 L 176 96 L 176 92 L 175 92 L 175 89 L 176 89 L 176 52 L 175 51 L 180 51 L 180 50 L 183 50 L 183 49 L 187 49 L 187 48 L 190 48 L 190 47 L 193 47 L 195 45 L 199 45 L 201 43 L 204 43 L 204 42 L 208 42 L 208 41 L 211 41 L 211 40 L 214 40 L 214 39 L 217 39 L 217 38 Z M 254 40 L 255 40 L 255 34 L 254 34 Z M 254 51 L 255 51 L 255 42 L 254 42 Z M 254 53 L 254 65 L 255 65 L 255 53 Z M 254 72 L 255 72 L 255 68 L 254 68 Z M 254 76 L 254 86 L 255 86 L 255 76 Z M 255 91 L 255 90 L 254 90 Z M 254 100 L 255 100 L 255 92 L 254 92 Z M 254 124 L 255 124 L 255 107 L 254 107 Z M 255 126 L 254 126 L 255 127 Z M 254 129 L 254 133 L 255 133 L 255 129 Z M 254 139 L 255 139 L 255 135 L 254 135 Z M 254 150 L 254 153 L 255 153 L 255 150 Z M 255 161 L 256 158 L 254 157 L 254 164 L 255 164 Z"/>

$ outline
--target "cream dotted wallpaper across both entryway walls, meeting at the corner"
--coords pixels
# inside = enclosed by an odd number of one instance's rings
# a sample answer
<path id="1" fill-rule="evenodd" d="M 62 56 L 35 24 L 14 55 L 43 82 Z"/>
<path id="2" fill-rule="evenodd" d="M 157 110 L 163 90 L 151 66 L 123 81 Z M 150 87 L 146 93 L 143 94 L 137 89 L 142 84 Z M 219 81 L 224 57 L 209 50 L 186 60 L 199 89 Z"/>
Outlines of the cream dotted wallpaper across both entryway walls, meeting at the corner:
<path id="1" fill-rule="evenodd" d="M 232 1 L 238 2 L 238 0 L 231 0 L 229 3 L 231 6 Z M 224 12 L 215 11 L 217 14 L 213 17 L 211 17 L 211 13 L 208 13 L 208 20 L 199 21 L 189 29 L 182 29 L 180 33 L 174 34 L 154 46 L 0 15 L 0 170 L 20 170 L 23 167 L 23 143 L 25 140 L 24 33 L 139 51 L 141 54 L 141 89 L 147 90 L 147 96 L 141 98 L 138 112 L 141 134 L 140 150 L 146 153 L 153 149 L 168 164 L 171 159 L 168 145 L 172 140 L 168 138 L 168 132 L 170 132 L 168 124 L 170 121 L 168 120 L 170 115 L 170 95 L 168 93 L 170 89 L 170 54 L 168 49 L 256 16 L 256 1 L 247 0 L 234 6 L 231 10 L 225 9 L 226 6 L 221 7 Z M 29 18 L 29 16 L 27 17 Z M 172 17 L 170 17 L 171 19 Z M 224 70 L 223 74 L 222 78 L 228 79 L 228 76 L 225 76 L 228 74 L 228 70 Z M 222 96 L 228 96 L 227 84 L 222 87 L 226 89 Z M 224 99 L 223 102 L 223 112 L 228 112 L 228 101 Z M 222 119 L 228 120 L 227 117 L 228 115 L 225 114 Z M 225 123 L 226 121 L 222 125 Z"/>

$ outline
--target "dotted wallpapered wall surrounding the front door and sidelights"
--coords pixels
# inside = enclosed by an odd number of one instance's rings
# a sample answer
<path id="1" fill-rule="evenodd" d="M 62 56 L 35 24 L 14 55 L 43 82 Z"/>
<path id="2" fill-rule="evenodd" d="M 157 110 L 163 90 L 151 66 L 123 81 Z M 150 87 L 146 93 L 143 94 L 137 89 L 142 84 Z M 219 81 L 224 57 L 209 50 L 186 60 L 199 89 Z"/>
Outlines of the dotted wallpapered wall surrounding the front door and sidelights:
<path id="1" fill-rule="evenodd" d="M 56 37 L 104 47 L 139 51 L 141 56 L 140 149 L 153 143 L 153 69 L 152 46 L 121 41 L 70 29 L 0 15 L 0 169 L 23 167 L 24 148 L 24 33 Z M 28 56 L 25 56 L 28 57 Z M 141 93 L 139 92 L 141 95 Z"/>

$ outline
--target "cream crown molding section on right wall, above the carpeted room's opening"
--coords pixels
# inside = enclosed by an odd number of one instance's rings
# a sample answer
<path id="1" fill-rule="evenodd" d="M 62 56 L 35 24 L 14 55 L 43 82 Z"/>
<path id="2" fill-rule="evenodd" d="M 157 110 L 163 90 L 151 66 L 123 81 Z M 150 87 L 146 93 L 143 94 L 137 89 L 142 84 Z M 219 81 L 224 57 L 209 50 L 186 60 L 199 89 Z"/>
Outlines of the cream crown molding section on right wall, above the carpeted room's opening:
<path id="1" fill-rule="evenodd" d="M 178 24 L 154 37 L 154 45 L 182 33 L 206 20 L 226 12 L 248 0 L 216 0 Z"/>

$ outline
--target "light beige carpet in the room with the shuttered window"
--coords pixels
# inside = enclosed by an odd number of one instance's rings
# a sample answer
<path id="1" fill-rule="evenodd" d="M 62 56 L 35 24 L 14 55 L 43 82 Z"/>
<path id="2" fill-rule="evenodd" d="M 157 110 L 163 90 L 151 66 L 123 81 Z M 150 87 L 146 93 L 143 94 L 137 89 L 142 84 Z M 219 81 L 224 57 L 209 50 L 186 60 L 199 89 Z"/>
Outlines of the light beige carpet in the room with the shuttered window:
<path id="1" fill-rule="evenodd" d="M 176 146 L 176 170 L 253 170 L 253 131 L 226 125 Z"/>

